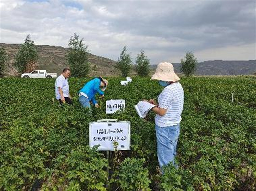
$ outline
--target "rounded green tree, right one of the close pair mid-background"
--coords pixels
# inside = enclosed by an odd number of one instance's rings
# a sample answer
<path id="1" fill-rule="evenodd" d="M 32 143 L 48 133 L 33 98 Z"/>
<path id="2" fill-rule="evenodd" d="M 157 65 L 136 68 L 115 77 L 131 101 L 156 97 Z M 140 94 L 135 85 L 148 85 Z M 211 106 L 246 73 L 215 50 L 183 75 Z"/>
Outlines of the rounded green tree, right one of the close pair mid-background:
<path id="1" fill-rule="evenodd" d="M 148 76 L 149 74 L 149 59 L 145 55 L 145 51 L 141 50 L 136 58 L 135 71 L 139 76 Z"/>

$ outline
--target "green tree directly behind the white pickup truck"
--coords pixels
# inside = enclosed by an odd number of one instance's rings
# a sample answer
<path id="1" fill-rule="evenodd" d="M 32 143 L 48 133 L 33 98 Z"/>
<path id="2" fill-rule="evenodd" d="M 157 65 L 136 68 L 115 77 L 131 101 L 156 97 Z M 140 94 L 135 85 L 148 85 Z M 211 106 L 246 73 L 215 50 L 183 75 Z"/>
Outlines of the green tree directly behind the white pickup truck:
<path id="1" fill-rule="evenodd" d="M 21 45 L 18 53 L 15 55 L 14 66 L 20 73 L 31 72 L 35 70 L 37 60 L 38 53 L 36 46 L 28 34 L 24 44 Z"/>

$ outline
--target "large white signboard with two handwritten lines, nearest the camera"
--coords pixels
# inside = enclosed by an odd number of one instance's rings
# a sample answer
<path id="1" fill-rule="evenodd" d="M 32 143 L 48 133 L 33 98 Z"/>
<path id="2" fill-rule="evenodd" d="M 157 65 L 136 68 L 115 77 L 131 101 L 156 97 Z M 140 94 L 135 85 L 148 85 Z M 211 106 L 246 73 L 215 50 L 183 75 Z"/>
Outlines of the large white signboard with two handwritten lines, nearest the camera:
<path id="1" fill-rule="evenodd" d="M 130 121 L 90 122 L 89 144 L 92 148 L 100 145 L 100 151 L 114 151 L 113 142 L 118 142 L 118 150 L 130 150 Z"/>

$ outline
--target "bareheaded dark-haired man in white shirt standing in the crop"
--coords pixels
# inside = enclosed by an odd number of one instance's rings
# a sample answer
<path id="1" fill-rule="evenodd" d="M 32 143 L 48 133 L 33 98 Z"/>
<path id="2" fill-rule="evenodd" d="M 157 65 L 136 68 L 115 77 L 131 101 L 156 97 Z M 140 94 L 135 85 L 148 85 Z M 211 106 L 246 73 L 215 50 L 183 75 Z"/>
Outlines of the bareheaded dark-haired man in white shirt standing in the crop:
<path id="1" fill-rule="evenodd" d="M 71 96 L 69 94 L 68 77 L 70 76 L 70 69 L 64 68 L 62 74 L 56 78 L 55 81 L 55 95 L 60 104 L 72 104 Z"/>

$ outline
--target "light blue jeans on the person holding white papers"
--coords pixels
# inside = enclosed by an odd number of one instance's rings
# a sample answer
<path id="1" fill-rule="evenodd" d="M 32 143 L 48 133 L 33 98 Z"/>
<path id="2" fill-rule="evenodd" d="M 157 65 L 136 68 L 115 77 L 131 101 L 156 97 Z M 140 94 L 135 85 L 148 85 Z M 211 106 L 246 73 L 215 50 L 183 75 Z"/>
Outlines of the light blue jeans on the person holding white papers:
<path id="1" fill-rule="evenodd" d="M 160 167 L 171 162 L 176 168 L 174 158 L 178 138 L 180 135 L 180 124 L 169 127 L 158 127 L 156 125 L 157 157 Z"/>

